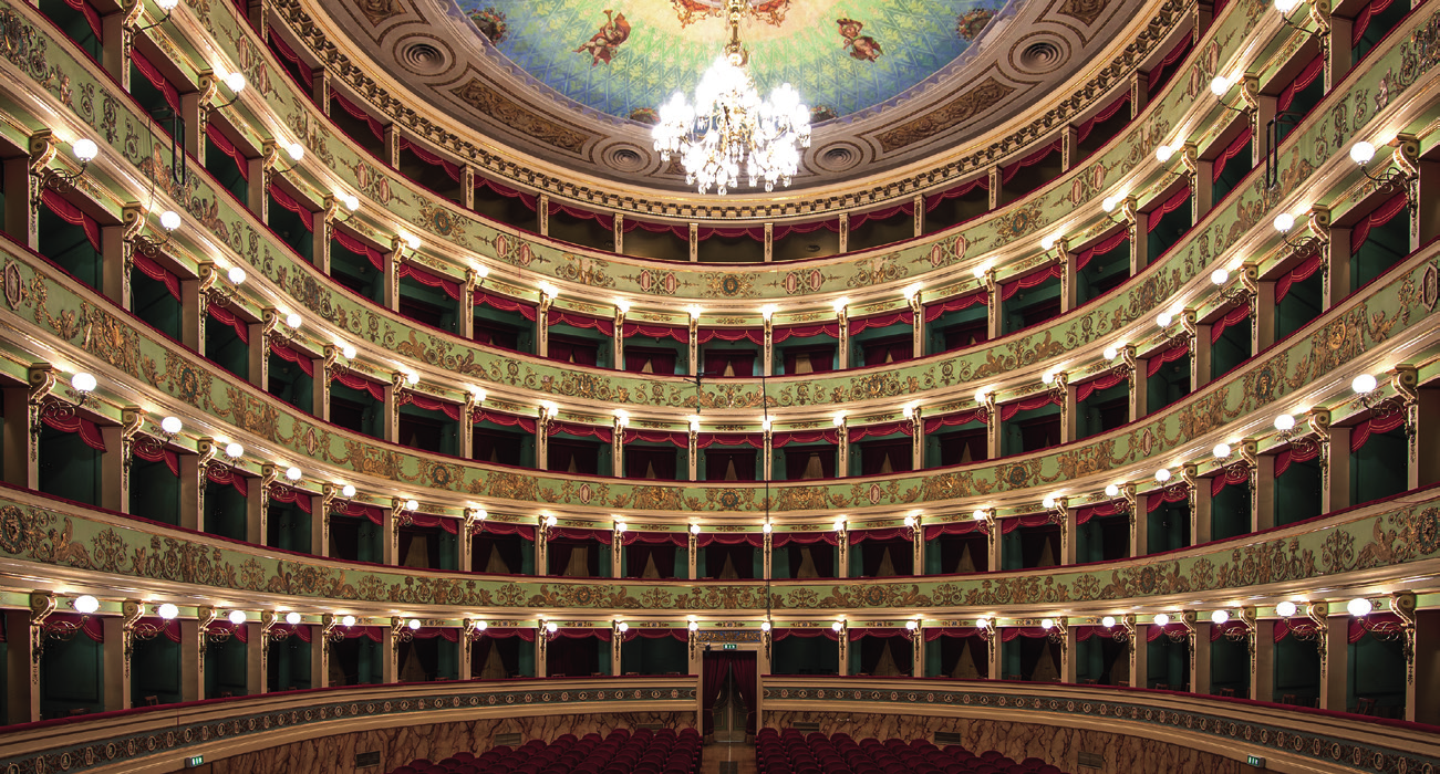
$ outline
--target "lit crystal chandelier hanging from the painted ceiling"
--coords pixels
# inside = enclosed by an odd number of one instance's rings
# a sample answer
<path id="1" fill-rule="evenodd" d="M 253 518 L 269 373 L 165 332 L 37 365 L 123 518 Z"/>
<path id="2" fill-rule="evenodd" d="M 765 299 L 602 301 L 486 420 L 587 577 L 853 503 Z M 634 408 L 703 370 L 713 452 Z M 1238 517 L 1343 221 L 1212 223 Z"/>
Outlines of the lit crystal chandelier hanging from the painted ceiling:
<path id="1" fill-rule="evenodd" d="M 664 161 L 680 155 L 685 184 L 700 193 L 711 187 L 724 196 L 740 177 L 750 186 L 765 181 L 789 187 L 801 163 L 801 148 L 809 147 L 809 108 L 789 83 L 762 101 L 746 69 L 749 53 L 740 47 L 740 14 L 746 0 L 726 0 L 730 42 L 724 55 L 706 70 L 696 88 L 696 106 L 680 92 L 660 108 L 660 124 L 651 135 Z"/>

